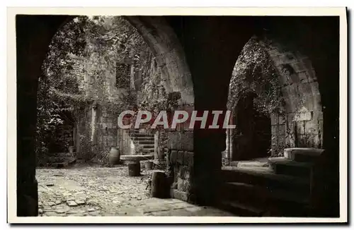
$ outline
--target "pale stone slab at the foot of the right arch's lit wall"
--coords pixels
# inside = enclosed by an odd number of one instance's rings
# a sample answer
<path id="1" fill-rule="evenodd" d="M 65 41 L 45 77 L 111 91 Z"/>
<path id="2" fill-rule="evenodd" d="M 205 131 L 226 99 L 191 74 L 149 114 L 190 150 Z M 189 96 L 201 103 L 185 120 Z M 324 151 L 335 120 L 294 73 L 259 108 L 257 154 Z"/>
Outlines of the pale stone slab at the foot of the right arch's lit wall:
<path id="1" fill-rule="evenodd" d="M 284 157 L 295 162 L 315 162 L 324 150 L 310 147 L 292 147 L 284 150 Z"/>

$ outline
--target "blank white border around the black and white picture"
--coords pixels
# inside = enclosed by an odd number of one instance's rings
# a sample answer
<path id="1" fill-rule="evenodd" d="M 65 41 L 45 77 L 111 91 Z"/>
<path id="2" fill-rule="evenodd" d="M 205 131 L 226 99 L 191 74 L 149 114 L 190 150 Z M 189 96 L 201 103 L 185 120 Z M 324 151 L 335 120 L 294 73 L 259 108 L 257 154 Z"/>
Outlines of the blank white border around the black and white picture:
<path id="1" fill-rule="evenodd" d="M 8 8 L 8 222 L 10 223 L 310 223 L 347 222 L 347 20 L 346 8 Z M 340 16 L 340 218 L 287 217 L 16 217 L 16 14 L 64 15 L 213 15 L 213 16 Z"/>

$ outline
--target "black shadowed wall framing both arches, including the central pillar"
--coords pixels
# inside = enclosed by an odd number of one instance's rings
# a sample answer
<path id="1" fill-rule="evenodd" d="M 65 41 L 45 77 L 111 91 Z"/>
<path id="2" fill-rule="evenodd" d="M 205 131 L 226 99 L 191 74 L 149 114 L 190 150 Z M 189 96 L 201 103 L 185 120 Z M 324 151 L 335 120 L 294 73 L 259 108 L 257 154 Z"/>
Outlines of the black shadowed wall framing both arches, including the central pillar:
<path id="1" fill-rule="evenodd" d="M 38 215 L 33 140 L 38 76 L 52 36 L 68 18 L 16 16 L 18 216 Z M 178 16 L 165 19 L 181 42 L 190 68 L 195 110 L 226 110 L 232 68 L 251 35 L 270 31 L 280 41 L 304 50 L 316 70 L 325 108 L 323 147 L 324 161 L 328 163 L 322 176 L 329 189 L 321 195 L 326 200 L 319 205 L 321 216 L 338 216 L 339 18 Z M 202 205 L 215 204 L 222 183 L 221 152 L 225 149 L 225 139 L 222 129 L 193 131 L 191 200 Z"/>

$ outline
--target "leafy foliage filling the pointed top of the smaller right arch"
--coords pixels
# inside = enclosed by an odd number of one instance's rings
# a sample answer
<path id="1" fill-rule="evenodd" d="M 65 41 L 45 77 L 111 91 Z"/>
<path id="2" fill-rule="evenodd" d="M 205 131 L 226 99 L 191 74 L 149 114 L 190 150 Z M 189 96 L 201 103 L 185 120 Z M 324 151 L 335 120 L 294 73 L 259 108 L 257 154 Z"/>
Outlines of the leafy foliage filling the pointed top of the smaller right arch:
<path id="1" fill-rule="evenodd" d="M 252 37 L 237 59 L 229 85 L 227 107 L 233 110 L 241 97 L 253 92 L 256 109 L 263 114 L 282 113 L 284 99 L 278 73 L 265 47 Z"/>

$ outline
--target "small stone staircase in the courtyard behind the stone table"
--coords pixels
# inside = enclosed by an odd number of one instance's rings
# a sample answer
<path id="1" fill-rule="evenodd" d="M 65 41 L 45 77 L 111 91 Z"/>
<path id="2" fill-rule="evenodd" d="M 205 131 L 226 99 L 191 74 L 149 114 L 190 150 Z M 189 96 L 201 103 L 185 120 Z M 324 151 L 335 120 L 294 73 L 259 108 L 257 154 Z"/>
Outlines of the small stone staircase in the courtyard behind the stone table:
<path id="1" fill-rule="evenodd" d="M 137 155 L 154 155 L 154 134 L 142 133 L 139 129 L 129 131 Z"/>

